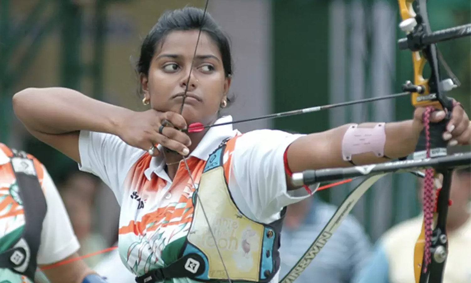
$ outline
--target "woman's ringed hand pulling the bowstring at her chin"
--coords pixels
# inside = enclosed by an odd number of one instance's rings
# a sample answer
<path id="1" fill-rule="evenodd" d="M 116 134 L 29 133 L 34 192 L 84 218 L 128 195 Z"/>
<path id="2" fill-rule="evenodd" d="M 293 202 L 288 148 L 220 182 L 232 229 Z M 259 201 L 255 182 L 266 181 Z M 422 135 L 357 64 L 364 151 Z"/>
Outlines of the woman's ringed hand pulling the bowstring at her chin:
<path id="1" fill-rule="evenodd" d="M 162 133 L 159 133 L 161 125 L 166 123 L 165 120 L 171 125 L 163 127 Z M 163 147 L 187 156 L 191 140 L 186 133 L 179 130 L 186 128 L 187 122 L 180 114 L 150 109 L 134 112 L 132 117 L 123 117 L 118 136 L 127 144 L 143 150 L 149 150 L 153 146 L 161 144 Z M 159 154 L 158 150 L 153 151 L 153 156 Z"/>

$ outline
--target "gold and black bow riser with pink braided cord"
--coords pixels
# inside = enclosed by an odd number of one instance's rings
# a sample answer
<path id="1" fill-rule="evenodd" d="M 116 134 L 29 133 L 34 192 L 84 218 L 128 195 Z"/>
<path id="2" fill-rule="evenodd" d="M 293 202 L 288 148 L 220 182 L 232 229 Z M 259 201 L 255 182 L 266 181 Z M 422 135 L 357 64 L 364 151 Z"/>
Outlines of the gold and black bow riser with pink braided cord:
<path id="1" fill-rule="evenodd" d="M 439 57 L 435 43 L 423 45 L 422 37 L 431 34 L 427 15 L 427 0 L 416 0 L 418 11 L 414 11 L 415 0 L 398 0 L 400 28 L 407 33 L 408 48 L 412 50 L 414 67 L 414 83 L 407 82 L 403 89 L 412 92 L 412 105 L 414 107 L 427 107 L 424 115 L 424 130 L 414 152 L 414 159 L 435 158 L 447 155 L 447 142 L 441 138 L 446 130 L 449 116 L 453 109 L 452 100 L 444 95 L 444 90 L 451 90 L 451 80 L 441 82 L 439 70 Z M 423 77 L 426 63 L 431 70 L 430 78 Z M 451 84 L 451 88 L 447 87 Z M 444 109 L 447 117 L 437 124 L 431 125 L 430 113 L 434 109 Z M 431 153 L 435 152 L 435 155 Z M 443 175 L 441 188 L 434 186 L 434 178 Z M 416 283 L 441 283 L 447 259 L 447 211 L 450 193 L 452 170 L 427 169 L 424 180 L 423 211 L 421 233 L 414 247 L 414 276 Z M 438 198 L 435 198 L 437 191 Z M 435 202 L 437 206 L 434 208 Z M 434 227 L 434 228 L 433 228 Z M 433 231 L 432 231 L 433 229 Z"/>

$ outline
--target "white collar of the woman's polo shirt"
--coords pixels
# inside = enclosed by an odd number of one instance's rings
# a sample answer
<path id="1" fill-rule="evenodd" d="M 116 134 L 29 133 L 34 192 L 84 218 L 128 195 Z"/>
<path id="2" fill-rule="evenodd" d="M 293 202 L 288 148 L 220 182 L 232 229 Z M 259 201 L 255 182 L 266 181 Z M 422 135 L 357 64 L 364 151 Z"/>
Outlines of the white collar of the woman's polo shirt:
<path id="1" fill-rule="evenodd" d="M 224 116 L 216 120 L 214 124 L 219 123 L 227 123 L 232 122 L 232 116 Z M 232 124 L 222 125 L 217 127 L 212 127 L 206 132 L 203 136 L 203 139 L 200 143 L 196 146 L 195 150 L 190 153 L 189 157 L 199 158 L 201 160 L 206 161 L 219 144 L 227 138 L 234 137 L 236 134 L 240 133 L 238 130 L 234 130 L 232 128 Z M 157 146 L 158 150 L 162 150 L 162 145 Z M 168 175 L 164 171 L 165 169 L 165 161 L 163 156 L 155 156 L 151 158 L 149 163 L 149 167 L 144 170 L 144 175 L 146 176 L 147 180 L 150 180 L 152 177 L 152 173 L 155 173 L 159 177 L 167 181 L 171 181 Z"/>

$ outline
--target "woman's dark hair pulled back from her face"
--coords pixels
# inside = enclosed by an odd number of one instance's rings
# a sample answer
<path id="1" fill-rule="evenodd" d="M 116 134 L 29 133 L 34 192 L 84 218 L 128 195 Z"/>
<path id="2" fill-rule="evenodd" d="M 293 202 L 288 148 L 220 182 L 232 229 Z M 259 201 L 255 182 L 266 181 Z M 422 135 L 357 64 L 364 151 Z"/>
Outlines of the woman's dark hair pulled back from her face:
<path id="1" fill-rule="evenodd" d="M 218 46 L 219 52 L 221 53 L 224 74 L 226 77 L 231 76 L 232 56 L 227 35 L 222 32 L 219 25 L 207 11 L 195 7 L 168 10 L 162 14 L 157 23 L 146 35 L 144 42 L 142 42 L 139 61 L 136 66 L 138 75 L 149 75 L 149 68 L 155 54 L 156 46 L 158 43 L 161 43 L 170 32 L 199 31 L 200 29 L 202 33 L 207 33 Z M 233 99 L 227 97 L 227 105 L 229 105 L 232 100 Z"/>

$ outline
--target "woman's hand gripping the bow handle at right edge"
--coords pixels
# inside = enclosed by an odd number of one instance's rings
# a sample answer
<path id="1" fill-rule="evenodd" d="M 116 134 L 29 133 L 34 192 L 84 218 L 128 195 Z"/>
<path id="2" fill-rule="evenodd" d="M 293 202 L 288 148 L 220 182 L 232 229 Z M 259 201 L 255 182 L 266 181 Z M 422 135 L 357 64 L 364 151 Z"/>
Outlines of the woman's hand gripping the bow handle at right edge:
<path id="1" fill-rule="evenodd" d="M 464 112 L 459 102 L 453 100 L 453 104 L 454 107 L 447 125 L 447 131 L 442 134 L 442 138 L 448 141 L 448 145 L 450 146 L 470 144 L 471 126 L 468 114 Z M 418 107 L 414 111 L 414 124 L 420 128 L 420 131 L 422 131 L 423 128 L 422 115 L 424 111 L 425 108 L 423 107 Z M 446 114 L 443 110 L 434 111 L 430 114 L 430 122 L 438 123 L 443 120 L 445 116 Z"/>

